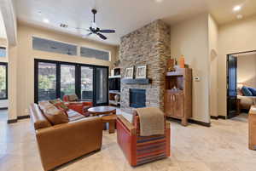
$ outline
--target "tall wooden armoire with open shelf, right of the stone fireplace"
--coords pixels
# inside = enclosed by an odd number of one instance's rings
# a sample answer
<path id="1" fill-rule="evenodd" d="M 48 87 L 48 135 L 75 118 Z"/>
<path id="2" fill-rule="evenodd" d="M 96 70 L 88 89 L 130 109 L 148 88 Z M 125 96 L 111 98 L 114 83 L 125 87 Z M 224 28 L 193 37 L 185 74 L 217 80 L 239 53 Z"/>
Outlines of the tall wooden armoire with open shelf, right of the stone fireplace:
<path id="1" fill-rule="evenodd" d="M 192 117 L 192 69 L 166 72 L 164 107 L 167 117 L 181 119 L 183 126 L 188 125 Z"/>

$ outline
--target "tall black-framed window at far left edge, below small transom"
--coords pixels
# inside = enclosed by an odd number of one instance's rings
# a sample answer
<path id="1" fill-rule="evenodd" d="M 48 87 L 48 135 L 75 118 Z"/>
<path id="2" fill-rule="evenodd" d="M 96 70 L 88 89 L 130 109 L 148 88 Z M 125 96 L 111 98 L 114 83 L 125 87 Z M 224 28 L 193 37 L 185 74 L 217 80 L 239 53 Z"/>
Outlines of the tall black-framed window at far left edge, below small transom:
<path id="1" fill-rule="evenodd" d="M 0 63 L 0 100 L 8 98 L 7 63 Z"/>

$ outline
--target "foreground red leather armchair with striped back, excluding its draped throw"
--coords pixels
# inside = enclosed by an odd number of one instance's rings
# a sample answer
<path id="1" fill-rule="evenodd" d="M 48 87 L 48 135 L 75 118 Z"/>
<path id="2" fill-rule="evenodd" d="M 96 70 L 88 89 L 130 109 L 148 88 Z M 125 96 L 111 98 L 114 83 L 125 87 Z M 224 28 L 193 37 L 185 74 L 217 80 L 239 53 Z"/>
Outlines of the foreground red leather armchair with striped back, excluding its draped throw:
<path id="1" fill-rule="evenodd" d="M 133 122 L 123 116 L 117 118 L 117 140 L 131 166 L 152 162 L 171 155 L 171 129 L 166 122 L 165 134 L 140 136 L 139 117 L 135 111 Z"/>

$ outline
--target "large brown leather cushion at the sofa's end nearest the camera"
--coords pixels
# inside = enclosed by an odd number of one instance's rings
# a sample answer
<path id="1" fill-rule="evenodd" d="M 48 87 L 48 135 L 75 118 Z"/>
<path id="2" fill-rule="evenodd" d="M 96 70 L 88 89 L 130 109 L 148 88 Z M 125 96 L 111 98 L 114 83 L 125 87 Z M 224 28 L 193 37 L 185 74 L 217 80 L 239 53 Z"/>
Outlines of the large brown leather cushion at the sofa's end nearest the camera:
<path id="1" fill-rule="evenodd" d="M 65 111 L 58 109 L 49 101 L 39 102 L 39 107 L 44 112 L 44 116 L 49 120 L 49 123 L 56 125 L 69 122 Z"/>

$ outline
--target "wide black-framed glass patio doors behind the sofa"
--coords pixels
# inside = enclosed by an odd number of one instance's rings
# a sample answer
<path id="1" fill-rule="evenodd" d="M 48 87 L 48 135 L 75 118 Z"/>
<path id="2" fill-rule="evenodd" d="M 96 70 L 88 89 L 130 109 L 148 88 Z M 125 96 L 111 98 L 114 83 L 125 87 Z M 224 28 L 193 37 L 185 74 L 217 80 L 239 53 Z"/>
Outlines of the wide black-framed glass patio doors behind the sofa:
<path id="1" fill-rule="evenodd" d="M 35 60 L 35 102 L 77 94 L 94 105 L 108 105 L 108 67 Z"/>

